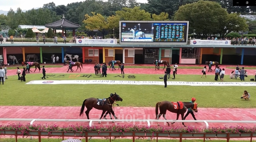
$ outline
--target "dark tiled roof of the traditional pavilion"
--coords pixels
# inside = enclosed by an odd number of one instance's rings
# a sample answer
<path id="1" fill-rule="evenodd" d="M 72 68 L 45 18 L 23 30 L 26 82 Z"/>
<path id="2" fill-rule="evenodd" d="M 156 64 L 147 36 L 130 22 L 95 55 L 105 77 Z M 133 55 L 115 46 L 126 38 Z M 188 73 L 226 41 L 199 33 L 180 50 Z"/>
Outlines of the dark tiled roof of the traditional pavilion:
<path id="1" fill-rule="evenodd" d="M 74 24 L 72 22 L 69 22 L 65 19 L 64 15 L 61 20 L 45 24 L 45 27 L 52 28 L 52 29 L 78 29 L 80 27 L 79 24 Z"/>

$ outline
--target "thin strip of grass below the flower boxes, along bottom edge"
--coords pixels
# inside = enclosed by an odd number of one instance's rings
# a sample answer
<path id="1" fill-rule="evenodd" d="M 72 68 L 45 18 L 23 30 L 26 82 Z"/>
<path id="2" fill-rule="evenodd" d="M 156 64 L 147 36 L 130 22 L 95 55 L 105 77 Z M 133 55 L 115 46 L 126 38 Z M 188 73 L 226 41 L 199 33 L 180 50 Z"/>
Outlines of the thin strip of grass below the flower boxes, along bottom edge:
<path id="1" fill-rule="evenodd" d="M 80 138 L 77 138 L 80 139 Z M 41 139 L 42 142 L 61 142 L 62 139 Z M 85 142 L 85 139 L 81 139 L 82 142 Z M 179 142 L 180 140 L 158 140 L 158 142 Z M 182 140 L 183 142 L 203 142 L 203 140 Z M 250 140 L 229 140 L 230 142 L 250 142 Z M 11 139 L 0 139 L 0 142 L 15 142 L 15 138 Z M 18 139 L 18 142 L 38 142 L 38 139 L 30 140 L 28 138 L 24 139 Z M 109 139 L 92 139 L 88 140 L 88 142 L 109 142 Z M 111 142 L 132 142 L 132 139 L 111 139 Z M 147 140 L 145 138 L 144 140 L 136 140 L 135 142 L 156 142 L 156 140 Z M 211 142 L 227 142 L 227 140 L 211 140 Z M 256 142 L 253 140 L 253 142 Z"/>

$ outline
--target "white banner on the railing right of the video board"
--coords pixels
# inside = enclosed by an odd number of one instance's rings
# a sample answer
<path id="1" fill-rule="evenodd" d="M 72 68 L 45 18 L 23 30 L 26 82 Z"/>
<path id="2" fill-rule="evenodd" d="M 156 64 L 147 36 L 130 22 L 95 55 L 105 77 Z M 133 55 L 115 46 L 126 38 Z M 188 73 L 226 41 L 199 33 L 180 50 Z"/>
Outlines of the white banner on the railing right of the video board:
<path id="1" fill-rule="evenodd" d="M 231 41 L 221 41 L 221 40 L 200 40 L 194 39 L 190 40 L 190 45 L 231 45 Z"/>

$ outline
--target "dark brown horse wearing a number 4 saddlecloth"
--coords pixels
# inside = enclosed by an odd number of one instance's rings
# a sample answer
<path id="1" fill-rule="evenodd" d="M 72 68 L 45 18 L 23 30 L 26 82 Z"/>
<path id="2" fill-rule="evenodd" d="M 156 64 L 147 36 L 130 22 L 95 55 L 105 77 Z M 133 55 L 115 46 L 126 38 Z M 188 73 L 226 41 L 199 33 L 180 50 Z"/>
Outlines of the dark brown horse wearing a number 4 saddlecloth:
<path id="1" fill-rule="evenodd" d="M 90 110 L 92 110 L 92 108 L 96 108 L 97 110 L 103 110 L 100 119 L 103 117 L 105 112 L 108 112 L 110 115 L 110 119 L 112 119 L 111 117 L 111 113 L 114 115 L 114 118 L 116 118 L 116 115 L 114 114 L 114 112 L 112 112 L 112 104 L 114 103 L 114 101 L 123 101 L 123 99 L 116 94 L 110 94 L 110 97 L 106 99 L 106 101 L 104 101 L 104 104 L 101 105 L 100 101 L 96 98 L 88 98 L 85 99 L 83 101 L 83 105 L 81 107 L 80 110 L 80 117 L 83 116 L 83 111 L 85 110 L 85 107 L 87 108 L 87 110 L 85 111 L 85 114 L 87 116 L 87 119 L 89 119 L 89 112 Z M 103 119 L 106 119 L 106 115 L 103 117 Z M 100 123 L 100 122 L 99 122 Z"/>

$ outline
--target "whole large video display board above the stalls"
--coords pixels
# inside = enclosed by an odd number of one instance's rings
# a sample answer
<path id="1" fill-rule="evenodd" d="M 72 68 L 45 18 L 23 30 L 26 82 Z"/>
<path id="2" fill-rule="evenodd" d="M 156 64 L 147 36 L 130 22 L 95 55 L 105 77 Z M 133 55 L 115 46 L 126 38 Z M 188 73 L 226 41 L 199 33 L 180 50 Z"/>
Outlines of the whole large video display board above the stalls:
<path id="1" fill-rule="evenodd" d="M 186 42 L 187 23 L 121 22 L 121 42 Z"/>

